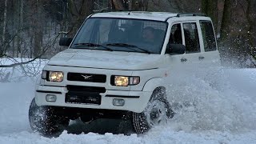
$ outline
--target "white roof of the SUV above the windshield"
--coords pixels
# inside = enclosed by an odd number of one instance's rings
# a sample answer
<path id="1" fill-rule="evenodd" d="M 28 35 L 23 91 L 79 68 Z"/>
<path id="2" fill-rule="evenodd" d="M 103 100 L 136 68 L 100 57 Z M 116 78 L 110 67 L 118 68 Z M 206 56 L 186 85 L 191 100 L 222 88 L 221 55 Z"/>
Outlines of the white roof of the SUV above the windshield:
<path id="1" fill-rule="evenodd" d="M 148 11 L 120 11 L 93 14 L 91 18 L 134 18 L 149 19 L 155 21 L 166 21 L 170 17 L 176 17 L 177 14 L 169 12 L 148 12 Z"/>

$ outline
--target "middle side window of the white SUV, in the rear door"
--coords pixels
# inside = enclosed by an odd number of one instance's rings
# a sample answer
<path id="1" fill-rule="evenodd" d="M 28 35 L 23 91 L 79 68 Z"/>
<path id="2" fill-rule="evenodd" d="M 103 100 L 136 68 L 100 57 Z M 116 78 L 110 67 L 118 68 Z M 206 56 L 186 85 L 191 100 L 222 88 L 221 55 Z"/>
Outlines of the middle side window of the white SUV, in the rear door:
<path id="1" fill-rule="evenodd" d="M 195 22 L 183 23 L 186 53 L 200 52 L 198 28 Z"/>

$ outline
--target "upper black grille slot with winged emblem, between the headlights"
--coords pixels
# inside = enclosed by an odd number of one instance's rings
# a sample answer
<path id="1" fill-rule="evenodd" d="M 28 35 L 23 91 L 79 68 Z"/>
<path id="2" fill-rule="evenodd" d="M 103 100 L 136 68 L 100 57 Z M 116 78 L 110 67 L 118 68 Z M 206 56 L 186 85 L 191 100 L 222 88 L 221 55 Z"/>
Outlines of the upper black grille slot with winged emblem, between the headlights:
<path id="1" fill-rule="evenodd" d="M 68 73 L 67 80 L 78 82 L 106 82 L 105 74 L 82 74 L 82 73 Z"/>

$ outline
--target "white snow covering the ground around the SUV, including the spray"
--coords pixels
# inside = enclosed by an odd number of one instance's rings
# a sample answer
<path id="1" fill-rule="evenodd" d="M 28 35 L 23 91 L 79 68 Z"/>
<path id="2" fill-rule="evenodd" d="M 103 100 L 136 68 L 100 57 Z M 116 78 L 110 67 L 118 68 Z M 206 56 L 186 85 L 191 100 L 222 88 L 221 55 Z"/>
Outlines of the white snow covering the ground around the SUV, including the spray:
<path id="1" fill-rule="evenodd" d="M 10 71 L 11 76 L 6 82 L 0 82 L 0 144 L 256 143 L 255 69 L 221 70 L 206 79 L 197 76 L 172 79 L 177 85 L 171 86 L 168 95 L 170 102 L 178 103 L 177 114 L 166 126 L 157 126 L 146 134 L 116 134 L 118 121 L 95 122 L 94 126 L 73 122 L 58 138 L 34 133 L 28 121 L 30 101 L 34 97 L 34 75 L 38 74 L 31 71 L 41 69 L 35 62 L 22 69 L 17 66 L 0 70 L 0 74 Z M 94 129 L 94 133 L 90 129 Z"/>

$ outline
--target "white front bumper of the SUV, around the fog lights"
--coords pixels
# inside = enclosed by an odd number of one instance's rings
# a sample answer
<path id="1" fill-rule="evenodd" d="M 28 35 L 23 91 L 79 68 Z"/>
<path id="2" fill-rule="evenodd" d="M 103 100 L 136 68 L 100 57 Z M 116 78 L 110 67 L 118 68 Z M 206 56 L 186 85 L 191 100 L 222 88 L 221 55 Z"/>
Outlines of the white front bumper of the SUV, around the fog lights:
<path id="1" fill-rule="evenodd" d="M 90 109 L 106 109 L 106 110 L 128 110 L 136 113 L 141 113 L 150 100 L 152 92 L 149 91 L 124 91 L 124 90 L 106 90 L 101 93 L 101 104 L 76 104 L 66 103 L 66 87 L 60 86 L 36 86 L 35 102 L 38 106 L 66 106 L 77 108 L 90 108 Z M 46 95 L 54 94 L 57 97 L 56 102 L 47 102 Z M 125 100 L 124 106 L 114 106 L 113 99 L 122 98 Z"/>

